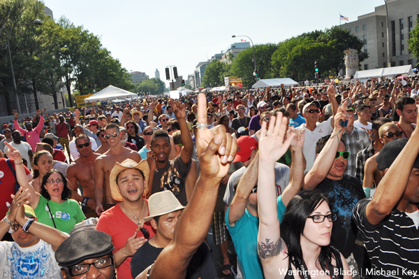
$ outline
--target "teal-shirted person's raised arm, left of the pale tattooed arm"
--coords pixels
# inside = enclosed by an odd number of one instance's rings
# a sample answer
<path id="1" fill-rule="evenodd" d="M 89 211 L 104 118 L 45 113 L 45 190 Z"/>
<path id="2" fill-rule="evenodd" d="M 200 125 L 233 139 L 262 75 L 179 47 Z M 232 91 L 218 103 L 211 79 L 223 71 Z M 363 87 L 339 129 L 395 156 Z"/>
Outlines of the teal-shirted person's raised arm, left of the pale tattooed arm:
<path id="1" fill-rule="evenodd" d="M 244 171 L 243 176 L 240 178 L 239 184 L 237 185 L 235 196 L 230 204 L 230 210 L 228 210 L 228 224 L 230 224 L 231 227 L 234 227 L 235 223 L 243 216 L 244 210 L 247 207 L 247 202 L 249 201 L 251 189 L 258 184 L 258 169 L 259 153 L 256 154 L 246 171 Z"/>

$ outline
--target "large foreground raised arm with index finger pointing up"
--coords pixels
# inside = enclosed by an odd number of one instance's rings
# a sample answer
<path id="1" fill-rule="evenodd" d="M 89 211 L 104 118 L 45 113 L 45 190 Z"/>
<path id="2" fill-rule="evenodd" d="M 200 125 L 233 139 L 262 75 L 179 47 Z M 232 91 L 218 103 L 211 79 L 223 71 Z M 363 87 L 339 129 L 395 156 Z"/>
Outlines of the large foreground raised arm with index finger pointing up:
<path id="1" fill-rule="evenodd" d="M 198 96 L 198 123 L 207 122 L 205 94 Z M 221 179 L 237 150 L 237 141 L 225 127 L 200 128 L 196 136 L 200 177 L 191 201 L 177 221 L 172 242 L 157 257 L 150 278 L 184 278 L 192 255 L 207 236 Z"/>

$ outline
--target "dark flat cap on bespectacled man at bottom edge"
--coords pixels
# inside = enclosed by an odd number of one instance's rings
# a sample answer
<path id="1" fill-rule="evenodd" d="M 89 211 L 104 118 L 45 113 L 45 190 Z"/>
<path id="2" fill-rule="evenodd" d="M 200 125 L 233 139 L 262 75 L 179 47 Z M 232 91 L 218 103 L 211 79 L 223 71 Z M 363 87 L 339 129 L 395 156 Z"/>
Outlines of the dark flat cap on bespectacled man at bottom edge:
<path id="1" fill-rule="evenodd" d="M 78 231 L 67 238 L 55 252 L 59 266 L 74 266 L 84 259 L 94 259 L 114 250 L 112 237 L 103 231 Z"/>

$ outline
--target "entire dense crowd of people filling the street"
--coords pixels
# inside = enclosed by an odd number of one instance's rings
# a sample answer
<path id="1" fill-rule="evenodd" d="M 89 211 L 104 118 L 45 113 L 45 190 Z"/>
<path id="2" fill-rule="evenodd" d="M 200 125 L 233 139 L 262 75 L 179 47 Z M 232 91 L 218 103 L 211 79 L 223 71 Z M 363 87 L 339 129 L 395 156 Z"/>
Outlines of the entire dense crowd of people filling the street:
<path id="1" fill-rule="evenodd" d="M 3 278 L 412 278 L 418 79 L 338 81 L 14 110 Z"/>

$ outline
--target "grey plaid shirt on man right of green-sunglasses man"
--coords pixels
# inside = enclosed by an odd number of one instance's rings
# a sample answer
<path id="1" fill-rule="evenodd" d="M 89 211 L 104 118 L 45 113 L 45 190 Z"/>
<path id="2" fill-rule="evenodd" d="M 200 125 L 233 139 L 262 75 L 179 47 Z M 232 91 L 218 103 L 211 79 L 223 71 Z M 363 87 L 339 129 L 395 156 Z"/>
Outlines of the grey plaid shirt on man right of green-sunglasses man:
<path id="1" fill-rule="evenodd" d="M 342 136 L 342 141 L 346 145 L 346 150 L 351 152 L 351 155 L 348 158 L 348 164 L 346 166 L 345 174 L 349 176 L 355 176 L 356 172 L 356 155 L 361 150 L 368 147 L 371 143 L 369 136 L 366 131 L 358 127 L 353 127 L 351 134 L 344 132 Z"/>

